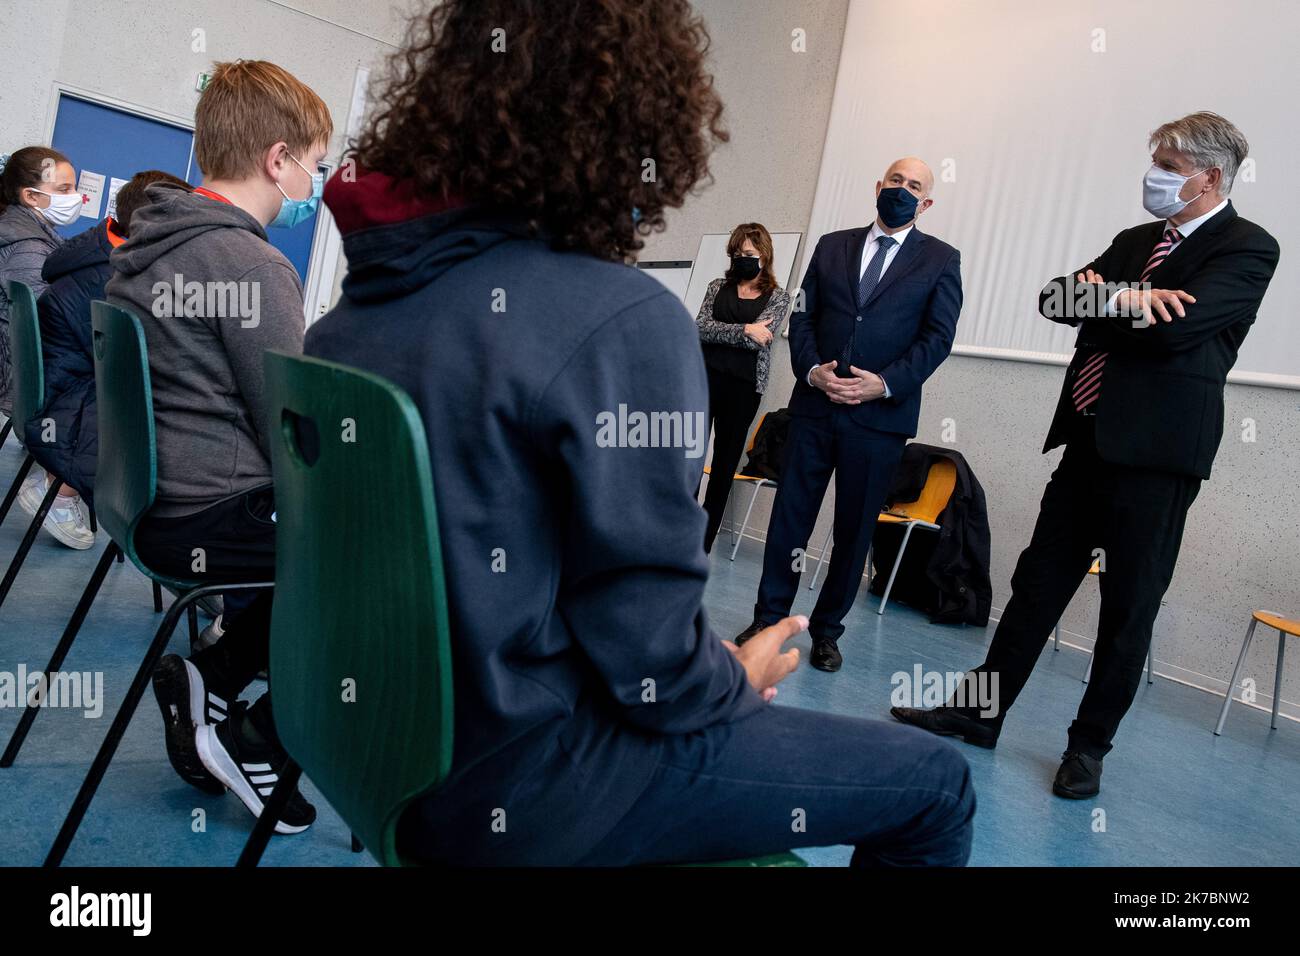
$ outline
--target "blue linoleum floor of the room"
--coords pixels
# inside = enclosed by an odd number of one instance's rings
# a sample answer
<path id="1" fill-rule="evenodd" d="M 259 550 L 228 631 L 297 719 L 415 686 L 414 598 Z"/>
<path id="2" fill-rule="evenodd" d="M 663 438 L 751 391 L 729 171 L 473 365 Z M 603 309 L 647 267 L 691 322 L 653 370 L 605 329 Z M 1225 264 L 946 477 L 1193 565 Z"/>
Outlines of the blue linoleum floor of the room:
<path id="1" fill-rule="evenodd" d="M 0 485 L 18 458 L 12 440 L 0 450 Z M 17 507 L 0 527 L 0 562 L 16 550 L 27 516 Z M 101 542 L 73 553 L 42 535 L 13 593 L 0 607 L 0 671 L 44 665 L 90 576 Z M 749 623 L 762 546 L 741 544 L 728 561 L 723 536 L 712 558 L 707 607 L 714 628 L 731 637 Z M 796 613 L 811 610 L 815 592 L 801 588 Z M 802 666 L 781 684 L 783 705 L 889 719 L 890 675 L 957 671 L 983 657 L 992 628 L 942 627 L 901 605 L 875 611 L 863 588 L 841 641 L 838 674 Z M 130 564 L 114 566 L 65 670 L 104 672 L 104 715 L 49 710 L 40 715 L 18 758 L 0 770 L 0 864 L 38 865 L 58 830 L 112 714 L 138 666 L 159 617 L 148 581 Z M 183 653 L 183 626 L 173 649 Z M 806 654 L 807 635 L 796 640 Z M 1222 698 L 1157 678 L 1143 684 L 1115 750 L 1106 758 L 1102 792 L 1088 801 L 1052 795 L 1050 780 L 1083 692 L 1084 653 L 1050 644 L 996 750 L 959 745 L 979 795 L 972 865 L 1294 865 L 1300 860 L 1300 726 L 1234 705 L 1222 737 L 1212 735 Z M 1225 662 L 1225 669 L 1231 662 Z M 0 709 L 0 741 L 18 711 Z M 264 865 L 370 865 L 348 849 L 348 830 L 318 800 L 320 819 L 300 836 L 276 838 Z M 1101 810 L 1102 813 L 1098 813 Z M 202 827 L 200 827 L 202 823 Z M 229 865 L 247 838 L 251 817 L 234 796 L 211 797 L 182 783 L 162 752 L 152 693 L 122 740 L 69 865 Z M 815 865 L 841 865 L 848 847 L 800 851 Z"/>

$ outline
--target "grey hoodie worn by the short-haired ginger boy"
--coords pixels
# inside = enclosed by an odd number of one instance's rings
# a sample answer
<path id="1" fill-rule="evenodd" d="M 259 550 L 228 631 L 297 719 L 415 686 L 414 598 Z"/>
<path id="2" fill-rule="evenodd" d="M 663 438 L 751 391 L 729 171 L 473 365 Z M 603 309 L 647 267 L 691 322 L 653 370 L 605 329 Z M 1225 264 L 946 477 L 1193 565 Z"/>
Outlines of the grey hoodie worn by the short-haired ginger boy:
<path id="1" fill-rule="evenodd" d="M 303 287 L 237 206 L 165 185 L 113 250 L 105 294 L 144 326 L 157 503 L 174 518 L 270 481 L 261 356 L 303 350 Z"/>

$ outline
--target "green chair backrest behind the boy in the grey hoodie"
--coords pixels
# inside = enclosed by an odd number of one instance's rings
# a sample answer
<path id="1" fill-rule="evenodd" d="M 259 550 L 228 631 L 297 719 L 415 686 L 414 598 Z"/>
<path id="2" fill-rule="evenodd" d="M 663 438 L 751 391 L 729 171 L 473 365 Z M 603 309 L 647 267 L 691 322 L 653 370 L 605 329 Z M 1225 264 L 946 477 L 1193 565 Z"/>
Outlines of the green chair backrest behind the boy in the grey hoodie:
<path id="1" fill-rule="evenodd" d="M 153 393 L 144 329 L 131 312 L 107 302 L 92 302 L 90 315 L 99 415 L 95 516 L 146 575 L 173 588 L 192 588 L 196 581 L 159 575 L 135 553 L 135 525 L 152 507 L 157 492 Z"/>

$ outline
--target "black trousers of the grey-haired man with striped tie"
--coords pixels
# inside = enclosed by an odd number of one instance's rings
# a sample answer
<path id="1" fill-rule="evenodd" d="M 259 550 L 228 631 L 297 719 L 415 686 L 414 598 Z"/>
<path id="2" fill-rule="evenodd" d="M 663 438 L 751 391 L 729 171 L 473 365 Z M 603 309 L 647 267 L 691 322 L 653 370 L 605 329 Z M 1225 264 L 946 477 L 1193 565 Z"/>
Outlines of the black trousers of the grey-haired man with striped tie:
<path id="1" fill-rule="evenodd" d="M 1201 481 L 1101 460 L 1095 421 L 1079 416 L 1074 423 L 1075 436 L 1043 492 L 1034 536 L 1015 563 L 1011 600 L 984 663 L 971 674 L 997 674 L 992 719 L 1001 727 L 1101 549 L 1092 676 L 1069 736 L 1070 749 L 1101 760 L 1141 683 L 1152 626 Z"/>

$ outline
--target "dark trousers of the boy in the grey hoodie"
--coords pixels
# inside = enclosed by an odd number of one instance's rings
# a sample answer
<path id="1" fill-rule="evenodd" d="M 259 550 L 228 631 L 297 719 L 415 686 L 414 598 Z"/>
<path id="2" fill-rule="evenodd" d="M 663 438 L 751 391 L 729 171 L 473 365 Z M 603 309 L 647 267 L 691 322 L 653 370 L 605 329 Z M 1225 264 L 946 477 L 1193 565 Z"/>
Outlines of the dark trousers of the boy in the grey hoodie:
<path id="1" fill-rule="evenodd" d="M 205 584 L 274 580 L 274 489 L 263 485 L 183 518 L 146 515 L 135 529 L 135 548 L 147 566 L 176 578 Z M 224 614 L 221 640 L 190 658 L 226 700 L 238 697 L 269 658 L 272 592 L 244 593 L 256 597 L 238 613 Z M 264 695 L 255 708 L 269 713 L 269 698 Z"/>

